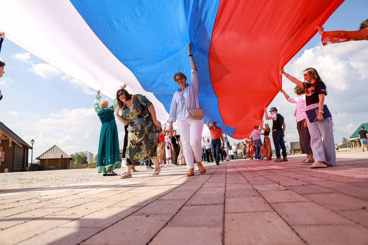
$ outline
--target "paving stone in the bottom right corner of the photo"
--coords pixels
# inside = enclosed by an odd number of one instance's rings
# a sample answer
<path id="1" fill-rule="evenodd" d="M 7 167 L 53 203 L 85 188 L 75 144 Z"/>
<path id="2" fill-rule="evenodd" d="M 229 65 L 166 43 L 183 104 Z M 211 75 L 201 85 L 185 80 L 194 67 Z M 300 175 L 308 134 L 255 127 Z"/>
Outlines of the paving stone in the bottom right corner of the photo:
<path id="1" fill-rule="evenodd" d="M 351 225 L 321 225 L 321 226 L 293 226 L 308 244 L 314 245 L 366 245 L 368 244 L 368 230 L 362 226 Z"/>

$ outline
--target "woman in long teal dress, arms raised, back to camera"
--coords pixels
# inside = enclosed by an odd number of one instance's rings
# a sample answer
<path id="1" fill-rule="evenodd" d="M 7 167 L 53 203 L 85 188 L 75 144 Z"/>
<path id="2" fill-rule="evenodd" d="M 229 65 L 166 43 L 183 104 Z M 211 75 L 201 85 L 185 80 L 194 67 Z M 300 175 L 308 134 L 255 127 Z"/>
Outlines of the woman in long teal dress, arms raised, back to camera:
<path id="1" fill-rule="evenodd" d="M 97 91 L 95 111 L 102 123 L 98 144 L 97 169 L 98 173 L 102 173 L 103 176 L 117 175 L 114 170 L 121 167 L 118 133 L 114 116 L 116 106 L 116 99 L 109 106 L 107 100 L 101 100 L 100 90 Z"/>

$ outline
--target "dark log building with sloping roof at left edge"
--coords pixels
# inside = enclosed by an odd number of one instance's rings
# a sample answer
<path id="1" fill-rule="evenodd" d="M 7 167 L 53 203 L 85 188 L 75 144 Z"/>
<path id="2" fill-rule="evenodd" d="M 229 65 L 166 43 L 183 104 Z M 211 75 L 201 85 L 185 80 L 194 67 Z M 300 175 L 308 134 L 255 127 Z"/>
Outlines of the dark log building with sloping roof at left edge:
<path id="1" fill-rule="evenodd" d="M 26 171 L 28 167 L 28 149 L 32 149 L 23 139 L 0 122 L 0 173 Z"/>

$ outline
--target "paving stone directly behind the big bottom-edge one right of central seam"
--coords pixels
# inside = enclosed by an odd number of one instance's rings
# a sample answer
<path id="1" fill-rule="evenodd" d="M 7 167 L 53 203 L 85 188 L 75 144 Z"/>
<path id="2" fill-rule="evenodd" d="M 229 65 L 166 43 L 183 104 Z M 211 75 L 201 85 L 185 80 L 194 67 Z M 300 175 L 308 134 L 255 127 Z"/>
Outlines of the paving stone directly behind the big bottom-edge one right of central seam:
<path id="1" fill-rule="evenodd" d="M 225 201 L 226 213 L 272 211 L 272 207 L 261 196 L 226 198 Z"/>

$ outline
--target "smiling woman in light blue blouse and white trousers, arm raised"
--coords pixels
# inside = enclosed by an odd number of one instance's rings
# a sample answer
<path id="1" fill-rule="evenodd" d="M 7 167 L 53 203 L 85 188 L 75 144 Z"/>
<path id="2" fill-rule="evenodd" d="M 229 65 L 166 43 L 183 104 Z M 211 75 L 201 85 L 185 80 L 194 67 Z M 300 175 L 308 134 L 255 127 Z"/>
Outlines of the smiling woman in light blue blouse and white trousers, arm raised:
<path id="1" fill-rule="evenodd" d="M 204 125 L 203 119 L 190 119 L 184 103 L 185 99 L 188 110 L 199 108 L 198 74 L 197 66 L 195 65 L 192 55 L 191 43 L 189 43 L 187 52 L 189 54 L 190 64 L 192 67 L 191 81 L 190 84 L 187 84 L 187 77 L 181 72 L 174 74 L 174 81 L 180 86 L 180 88 L 174 93 L 173 100 L 171 101 L 169 120 L 167 120 L 167 122 L 170 123 L 169 132 L 171 134 L 173 131 L 173 123 L 178 120 L 177 125 L 180 131 L 184 158 L 188 168 L 188 172 L 184 176 L 189 177 L 194 175 L 194 159 L 197 161 L 197 166 L 199 167 L 199 172 L 201 174 L 206 173 L 206 169 L 202 165 L 201 135 Z"/>

